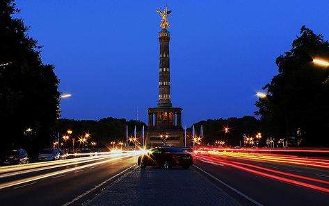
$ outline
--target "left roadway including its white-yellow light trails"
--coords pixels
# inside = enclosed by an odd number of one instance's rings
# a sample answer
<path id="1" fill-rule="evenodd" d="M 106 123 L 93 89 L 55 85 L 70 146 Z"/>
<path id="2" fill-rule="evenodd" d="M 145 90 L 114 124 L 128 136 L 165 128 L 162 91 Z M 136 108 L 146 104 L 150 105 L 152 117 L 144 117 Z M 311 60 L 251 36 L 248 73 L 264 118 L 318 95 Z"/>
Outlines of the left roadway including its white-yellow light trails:
<path id="1" fill-rule="evenodd" d="M 104 155 L 42 164 L 24 165 L 28 172 L 17 166 L 9 173 L 10 167 L 0 168 L 1 205 L 79 205 L 127 173 L 136 164 L 136 156 Z"/>

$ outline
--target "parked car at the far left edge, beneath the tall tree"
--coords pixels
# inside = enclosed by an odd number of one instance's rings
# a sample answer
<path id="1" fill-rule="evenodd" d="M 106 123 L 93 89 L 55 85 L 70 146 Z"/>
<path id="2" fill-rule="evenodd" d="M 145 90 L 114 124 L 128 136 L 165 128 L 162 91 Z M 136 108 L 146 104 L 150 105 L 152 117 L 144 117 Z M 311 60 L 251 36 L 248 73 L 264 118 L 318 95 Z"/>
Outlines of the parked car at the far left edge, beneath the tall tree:
<path id="1" fill-rule="evenodd" d="M 29 156 L 22 148 L 7 151 L 1 157 L 1 164 L 27 164 L 29 163 Z"/>

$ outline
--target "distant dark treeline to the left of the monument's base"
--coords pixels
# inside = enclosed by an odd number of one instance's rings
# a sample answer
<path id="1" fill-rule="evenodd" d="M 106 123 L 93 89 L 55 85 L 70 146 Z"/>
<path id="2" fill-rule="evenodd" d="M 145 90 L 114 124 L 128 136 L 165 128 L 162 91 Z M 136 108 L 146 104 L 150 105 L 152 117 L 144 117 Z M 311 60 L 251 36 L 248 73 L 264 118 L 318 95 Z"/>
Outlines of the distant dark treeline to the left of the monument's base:
<path id="1" fill-rule="evenodd" d="M 140 135 L 145 127 L 147 127 L 142 121 L 126 119 L 115 119 L 112 117 L 106 117 L 104 119 L 96 120 L 74 120 L 74 119 L 60 119 L 58 121 L 58 135 L 63 137 L 67 135 L 67 130 L 72 130 L 70 139 L 75 138 L 76 140 L 86 133 L 90 134 L 90 141 L 97 142 L 97 147 L 104 148 L 109 146 L 111 141 L 122 141 L 126 142 L 126 126 L 128 126 L 129 137 L 134 135 L 134 128 L 136 126 L 136 132 Z M 63 140 L 61 140 L 63 141 Z M 79 145 L 79 144 L 78 144 Z"/>

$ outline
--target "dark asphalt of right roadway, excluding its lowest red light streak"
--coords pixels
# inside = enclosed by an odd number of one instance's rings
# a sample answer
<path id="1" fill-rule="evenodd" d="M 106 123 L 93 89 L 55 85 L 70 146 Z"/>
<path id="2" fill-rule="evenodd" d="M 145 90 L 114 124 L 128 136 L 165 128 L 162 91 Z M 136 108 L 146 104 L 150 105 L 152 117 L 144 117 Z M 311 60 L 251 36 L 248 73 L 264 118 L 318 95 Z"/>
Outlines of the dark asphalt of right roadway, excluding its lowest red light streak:
<path id="1" fill-rule="evenodd" d="M 204 156 L 211 157 L 211 155 Z M 216 158 L 223 160 L 220 157 Z M 266 169 L 284 171 L 293 175 L 303 175 L 325 181 L 329 180 L 328 169 L 225 158 L 225 160 L 227 159 L 262 166 Z M 198 158 L 198 160 L 195 160 L 195 168 L 201 173 L 204 173 L 204 175 L 207 175 L 209 180 L 212 180 L 218 187 L 226 191 L 227 194 L 238 200 L 241 205 L 246 204 L 244 203 L 246 198 L 249 198 L 249 202 L 255 205 L 329 205 L 329 193 L 242 171 L 241 169 L 236 169 L 225 164 L 225 162 L 220 164 L 211 160 Z M 269 174 L 272 175 L 273 173 Z M 284 175 L 278 176 L 280 178 L 286 177 Z M 291 178 L 291 176 L 289 178 L 291 180 L 299 180 L 298 178 Z M 321 182 L 314 183 L 308 180 L 303 180 L 303 182 L 328 189 L 328 184 Z"/>

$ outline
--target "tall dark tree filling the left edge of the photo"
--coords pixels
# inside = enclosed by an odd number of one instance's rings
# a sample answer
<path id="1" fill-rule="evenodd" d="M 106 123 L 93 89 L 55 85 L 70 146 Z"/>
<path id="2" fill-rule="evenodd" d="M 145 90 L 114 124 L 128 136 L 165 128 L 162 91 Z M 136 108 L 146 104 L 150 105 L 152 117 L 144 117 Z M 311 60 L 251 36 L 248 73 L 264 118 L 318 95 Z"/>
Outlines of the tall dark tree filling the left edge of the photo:
<path id="1" fill-rule="evenodd" d="M 41 46 L 26 35 L 29 27 L 13 17 L 17 12 L 13 0 L 0 1 L 1 148 L 37 151 L 54 135 L 58 78 L 53 65 L 42 63 Z"/>

